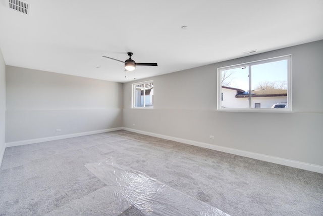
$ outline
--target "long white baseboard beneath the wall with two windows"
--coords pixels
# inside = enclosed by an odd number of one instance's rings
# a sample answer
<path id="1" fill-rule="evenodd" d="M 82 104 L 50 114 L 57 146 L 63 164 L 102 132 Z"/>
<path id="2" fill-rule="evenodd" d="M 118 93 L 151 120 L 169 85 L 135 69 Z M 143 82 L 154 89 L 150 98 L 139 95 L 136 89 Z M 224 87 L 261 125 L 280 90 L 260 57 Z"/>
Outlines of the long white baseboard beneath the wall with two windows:
<path id="1" fill-rule="evenodd" d="M 217 145 L 212 145 L 208 143 L 201 143 L 201 142 L 196 142 L 192 140 L 185 140 L 181 138 L 176 138 L 176 137 L 170 137 L 166 135 L 160 135 L 160 134 L 155 134 L 155 133 L 150 133 L 150 132 L 145 132 L 145 131 L 139 131 L 136 129 L 124 127 L 123 128 L 125 131 L 130 131 L 138 134 L 143 134 L 143 135 L 148 135 L 152 137 L 157 137 L 161 139 L 166 139 L 166 140 L 172 140 L 175 142 L 180 142 L 180 143 L 185 143 L 193 146 L 198 146 L 198 147 L 203 147 L 207 149 L 212 149 L 216 151 L 221 151 L 221 152 L 226 152 L 230 154 L 235 154 L 235 155 L 240 155 L 244 157 L 249 157 L 257 160 L 263 160 L 267 162 L 272 162 L 272 163 L 277 163 L 285 166 L 291 166 L 294 168 L 299 168 L 299 169 L 305 169 L 308 171 L 313 171 L 313 172 L 318 172 L 320 174 L 323 174 L 323 166 L 315 165 L 315 164 L 310 164 L 310 163 L 304 163 L 300 161 L 295 161 L 295 160 L 289 160 L 289 159 L 284 159 L 280 157 L 274 157 L 270 155 L 264 155 L 264 154 L 258 154 L 254 152 L 248 152 L 248 151 L 242 151 L 239 149 L 233 149 L 233 148 L 227 148 L 223 146 L 217 146 Z"/>

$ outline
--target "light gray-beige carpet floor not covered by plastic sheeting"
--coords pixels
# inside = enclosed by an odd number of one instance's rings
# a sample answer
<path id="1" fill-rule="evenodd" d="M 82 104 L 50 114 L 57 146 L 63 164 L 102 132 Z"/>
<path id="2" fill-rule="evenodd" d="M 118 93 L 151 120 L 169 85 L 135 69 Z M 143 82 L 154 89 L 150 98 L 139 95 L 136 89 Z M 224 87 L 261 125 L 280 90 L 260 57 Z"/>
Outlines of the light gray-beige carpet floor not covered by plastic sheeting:
<path id="1" fill-rule="evenodd" d="M 85 167 L 109 158 L 230 215 L 323 215 L 322 174 L 126 131 L 7 148 L 0 215 L 145 215 Z"/>

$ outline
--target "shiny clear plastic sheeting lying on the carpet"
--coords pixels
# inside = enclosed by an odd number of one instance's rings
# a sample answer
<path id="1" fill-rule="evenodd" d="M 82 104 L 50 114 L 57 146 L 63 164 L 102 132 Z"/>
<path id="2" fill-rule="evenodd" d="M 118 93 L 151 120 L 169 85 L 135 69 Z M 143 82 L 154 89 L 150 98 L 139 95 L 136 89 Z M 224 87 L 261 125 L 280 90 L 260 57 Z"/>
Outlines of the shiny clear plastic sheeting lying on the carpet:
<path id="1" fill-rule="evenodd" d="M 145 215 L 229 215 L 140 171 L 117 165 L 112 159 L 85 167 L 107 186 L 114 187 L 118 209 L 109 212 L 111 215 L 119 215 L 131 205 Z"/>

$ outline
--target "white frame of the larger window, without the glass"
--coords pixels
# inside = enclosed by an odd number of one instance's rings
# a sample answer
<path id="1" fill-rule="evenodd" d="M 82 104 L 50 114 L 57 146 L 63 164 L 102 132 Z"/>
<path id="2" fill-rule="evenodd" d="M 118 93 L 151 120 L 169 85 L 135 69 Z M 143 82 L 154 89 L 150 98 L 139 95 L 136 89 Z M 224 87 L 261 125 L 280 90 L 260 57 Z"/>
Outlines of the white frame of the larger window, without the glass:
<path id="1" fill-rule="evenodd" d="M 249 91 L 249 108 L 222 108 L 221 103 L 222 103 L 222 84 L 221 84 L 221 71 L 223 70 L 228 70 L 232 68 L 237 68 L 237 67 L 249 67 L 249 90 L 251 89 L 251 79 L 252 77 L 250 76 L 251 73 L 251 66 L 252 65 L 258 65 L 258 64 L 264 64 L 264 63 L 270 63 L 270 62 L 275 62 L 275 61 L 281 61 L 281 60 L 287 60 L 288 61 L 288 68 L 287 68 L 287 103 L 288 103 L 288 108 L 284 109 L 273 109 L 273 108 L 252 108 L 252 100 L 251 98 L 251 91 Z M 285 56 L 279 56 L 279 57 L 274 57 L 274 58 L 268 58 L 268 59 L 262 59 L 262 60 L 257 60 L 257 61 L 252 61 L 252 62 L 247 62 L 247 63 L 241 63 L 241 64 L 236 64 L 236 65 L 230 65 L 230 66 L 225 66 L 225 67 L 220 67 L 218 68 L 218 92 L 217 92 L 217 101 L 218 101 L 218 111 L 228 111 L 228 112 L 291 112 L 292 111 L 292 55 L 285 55 Z"/>

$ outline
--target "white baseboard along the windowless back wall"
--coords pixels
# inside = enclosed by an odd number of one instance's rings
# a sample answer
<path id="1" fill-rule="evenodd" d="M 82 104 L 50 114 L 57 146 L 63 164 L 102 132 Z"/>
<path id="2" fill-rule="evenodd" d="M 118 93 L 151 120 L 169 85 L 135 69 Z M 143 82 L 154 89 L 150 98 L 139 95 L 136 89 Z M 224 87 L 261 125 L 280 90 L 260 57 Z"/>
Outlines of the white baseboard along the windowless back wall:
<path id="1" fill-rule="evenodd" d="M 66 139 L 66 138 L 81 137 L 81 136 L 92 135 L 92 134 L 101 134 L 101 133 L 106 133 L 106 132 L 120 131 L 121 129 L 123 129 L 123 127 L 101 129 L 98 131 L 90 131 L 90 132 L 83 132 L 83 133 L 77 133 L 77 134 L 67 134 L 67 135 L 55 136 L 55 137 L 44 137 L 44 138 L 38 138 L 38 139 L 32 139 L 32 140 L 22 140 L 22 141 L 6 143 L 6 148 L 13 147 L 13 146 L 28 145 L 28 144 L 33 144 L 33 143 L 41 143 L 41 142 L 52 141 L 52 140 L 61 140 L 61 139 Z"/>

